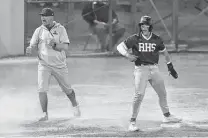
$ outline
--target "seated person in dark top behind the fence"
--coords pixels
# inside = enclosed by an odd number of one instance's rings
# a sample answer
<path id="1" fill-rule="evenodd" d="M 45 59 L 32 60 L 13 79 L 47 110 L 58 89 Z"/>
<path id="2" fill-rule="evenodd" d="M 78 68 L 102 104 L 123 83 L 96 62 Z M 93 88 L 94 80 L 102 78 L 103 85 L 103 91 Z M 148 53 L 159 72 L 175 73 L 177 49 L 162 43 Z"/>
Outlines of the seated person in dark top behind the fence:
<path id="1" fill-rule="evenodd" d="M 88 2 L 82 10 L 83 19 L 98 38 L 101 51 L 112 51 L 125 33 L 125 28 L 119 24 L 118 16 L 112 10 L 112 47 L 109 45 L 109 5 L 105 2 Z"/>

